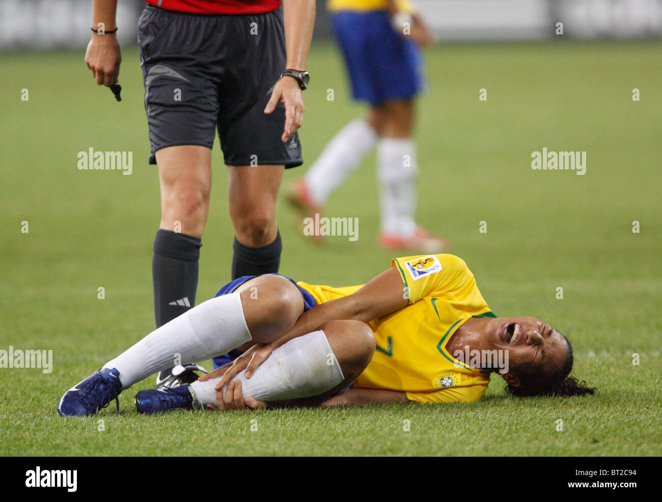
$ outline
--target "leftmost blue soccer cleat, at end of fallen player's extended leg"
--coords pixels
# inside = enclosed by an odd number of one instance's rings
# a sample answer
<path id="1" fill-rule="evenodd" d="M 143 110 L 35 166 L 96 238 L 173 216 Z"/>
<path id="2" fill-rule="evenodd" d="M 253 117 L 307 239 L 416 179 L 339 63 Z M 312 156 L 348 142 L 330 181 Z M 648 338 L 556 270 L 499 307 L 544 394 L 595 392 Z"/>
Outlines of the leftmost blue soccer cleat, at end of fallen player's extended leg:
<path id="1" fill-rule="evenodd" d="M 115 368 L 101 368 L 64 393 L 58 413 L 63 417 L 94 415 L 101 408 L 107 407 L 113 399 L 120 411 L 117 398 L 122 392 L 119 372 Z"/>

